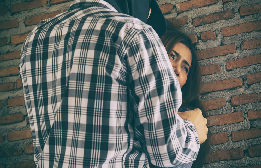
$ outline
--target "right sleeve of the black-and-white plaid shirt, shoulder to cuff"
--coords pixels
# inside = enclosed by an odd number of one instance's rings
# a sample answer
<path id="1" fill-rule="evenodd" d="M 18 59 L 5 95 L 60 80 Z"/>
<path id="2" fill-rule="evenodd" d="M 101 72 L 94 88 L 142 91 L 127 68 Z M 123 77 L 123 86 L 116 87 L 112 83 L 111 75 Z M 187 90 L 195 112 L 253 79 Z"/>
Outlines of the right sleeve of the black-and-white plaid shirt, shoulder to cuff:
<path id="1" fill-rule="evenodd" d="M 150 27 L 140 31 L 126 52 L 135 136 L 144 144 L 150 163 L 171 167 L 194 161 L 198 133 L 193 123 L 177 114 L 180 85 L 156 32 Z"/>

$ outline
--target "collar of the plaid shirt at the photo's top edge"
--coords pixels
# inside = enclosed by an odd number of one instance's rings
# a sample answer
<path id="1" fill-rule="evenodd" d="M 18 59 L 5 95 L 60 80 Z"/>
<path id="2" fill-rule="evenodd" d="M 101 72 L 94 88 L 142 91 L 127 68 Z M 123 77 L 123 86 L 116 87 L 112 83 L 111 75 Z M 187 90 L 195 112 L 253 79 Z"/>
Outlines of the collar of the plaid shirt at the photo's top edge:
<path id="1" fill-rule="evenodd" d="M 103 7 L 118 12 L 112 5 L 110 5 L 108 2 L 105 2 L 103 0 L 75 0 L 70 5 L 67 11 L 76 8 L 89 8 L 89 7 Z"/>

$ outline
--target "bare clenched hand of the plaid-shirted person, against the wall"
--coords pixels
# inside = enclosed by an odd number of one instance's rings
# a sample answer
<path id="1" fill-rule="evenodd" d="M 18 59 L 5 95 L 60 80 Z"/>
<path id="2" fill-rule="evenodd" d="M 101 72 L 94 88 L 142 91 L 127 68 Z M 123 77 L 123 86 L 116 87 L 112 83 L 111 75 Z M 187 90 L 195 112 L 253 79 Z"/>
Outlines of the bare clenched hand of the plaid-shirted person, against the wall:
<path id="1" fill-rule="evenodd" d="M 203 143 L 207 139 L 207 119 L 202 116 L 202 112 L 199 108 L 189 110 L 185 112 L 178 112 L 182 119 L 191 121 L 197 128 L 199 143 Z"/>

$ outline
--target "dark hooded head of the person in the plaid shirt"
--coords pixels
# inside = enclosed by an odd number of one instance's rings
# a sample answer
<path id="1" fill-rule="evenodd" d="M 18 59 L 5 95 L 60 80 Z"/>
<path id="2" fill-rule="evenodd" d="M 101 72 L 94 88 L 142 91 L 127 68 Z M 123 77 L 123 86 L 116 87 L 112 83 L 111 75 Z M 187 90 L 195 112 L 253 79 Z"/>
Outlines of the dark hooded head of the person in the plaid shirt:
<path id="1" fill-rule="evenodd" d="M 111 4 L 119 13 L 140 19 L 152 26 L 161 37 L 167 30 L 167 23 L 156 0 L 104 0 Z M 151 14 L 149 16 L 149 11 Z"/>

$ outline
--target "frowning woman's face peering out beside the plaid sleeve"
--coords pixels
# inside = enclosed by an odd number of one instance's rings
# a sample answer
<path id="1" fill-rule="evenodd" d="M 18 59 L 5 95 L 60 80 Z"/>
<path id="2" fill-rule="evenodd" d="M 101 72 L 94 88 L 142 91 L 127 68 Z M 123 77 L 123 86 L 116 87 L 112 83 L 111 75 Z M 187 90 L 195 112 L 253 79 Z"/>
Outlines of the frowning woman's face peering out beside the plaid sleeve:
<path id="1" fill-rule="evenodd" d="M 187 81 L 191 66 L 191 51 L 186 45 L 180 42 L 178 42 L 172 50 L 169 60 L 179 80 L 180 88 L 182 88 Z"/>

